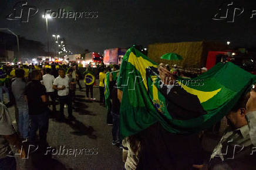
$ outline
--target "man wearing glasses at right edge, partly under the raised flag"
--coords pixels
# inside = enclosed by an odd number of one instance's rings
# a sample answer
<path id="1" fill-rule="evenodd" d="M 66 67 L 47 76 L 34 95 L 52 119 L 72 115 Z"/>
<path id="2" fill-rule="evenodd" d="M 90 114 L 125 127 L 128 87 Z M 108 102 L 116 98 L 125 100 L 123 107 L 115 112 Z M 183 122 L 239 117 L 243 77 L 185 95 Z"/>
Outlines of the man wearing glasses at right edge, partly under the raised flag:
<path id="1" fill-rule="evenodd" d="M 256 92 L 242 95 L 226 115 L 228 128 L 214 148 L 208 169 L 255 169 Z"/>

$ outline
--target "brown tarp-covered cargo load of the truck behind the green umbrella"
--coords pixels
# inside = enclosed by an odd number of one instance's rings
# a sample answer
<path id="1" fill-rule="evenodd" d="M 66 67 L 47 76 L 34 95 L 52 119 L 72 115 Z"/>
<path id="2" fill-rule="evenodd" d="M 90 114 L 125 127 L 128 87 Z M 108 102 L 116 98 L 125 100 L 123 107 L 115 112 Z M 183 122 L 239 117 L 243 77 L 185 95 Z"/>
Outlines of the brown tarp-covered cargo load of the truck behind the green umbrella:
<path id="1" fill-rule="evenodd" d="M 148 57 L 156 63 L 177 64 L 181 67 L 201 68 L 206 67 L 208 51 L 225 51 L 229 47 L 225 43 L 190 41 L 181 43 L 157 43 L 150 44 Z M 161 55 L 176 53 L 183 57 L 180 61 L 167 61 L 161 59 Z"/>

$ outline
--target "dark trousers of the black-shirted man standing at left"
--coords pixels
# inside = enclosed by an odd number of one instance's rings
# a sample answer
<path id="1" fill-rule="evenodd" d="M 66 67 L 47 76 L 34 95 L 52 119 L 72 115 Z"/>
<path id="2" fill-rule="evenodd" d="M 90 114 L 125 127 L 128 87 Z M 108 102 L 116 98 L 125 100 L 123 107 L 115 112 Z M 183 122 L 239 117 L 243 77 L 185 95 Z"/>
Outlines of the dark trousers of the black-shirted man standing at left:
<path id="1" fill-rule="evenodd" d="M 31 119 L 31 130 L 29 131 L 29 141 L 35 142 L 36 131 L 39 129 L 40 141 L 46 143 L 46 137 L 49 126 L 49 112 L 48 110 L 40 115 L 29 115 Z"/>

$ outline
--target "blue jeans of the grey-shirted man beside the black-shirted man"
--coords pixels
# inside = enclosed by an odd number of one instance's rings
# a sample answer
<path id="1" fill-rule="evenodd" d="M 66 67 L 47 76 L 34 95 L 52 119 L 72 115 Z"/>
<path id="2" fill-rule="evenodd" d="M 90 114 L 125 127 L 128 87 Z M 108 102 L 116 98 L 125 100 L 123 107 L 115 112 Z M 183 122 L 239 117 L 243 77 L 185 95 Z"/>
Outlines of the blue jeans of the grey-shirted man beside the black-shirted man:
<path id="1" fill-rule="evenodd" d="M 18 108 L 19 112 L 19 133 L 23 138 L 28 138 L 29 115 L 28 108 Z"/>

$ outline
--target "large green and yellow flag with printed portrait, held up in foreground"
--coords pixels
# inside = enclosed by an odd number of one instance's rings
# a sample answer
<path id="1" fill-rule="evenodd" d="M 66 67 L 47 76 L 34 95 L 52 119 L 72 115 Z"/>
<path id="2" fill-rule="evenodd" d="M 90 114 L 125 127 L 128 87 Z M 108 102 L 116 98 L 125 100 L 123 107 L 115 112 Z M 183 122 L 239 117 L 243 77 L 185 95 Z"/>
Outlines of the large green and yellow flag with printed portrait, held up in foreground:
<path id="1" fill-rule="evenodd" d="M 120 107 L 122 137 L 136 134 L 156 122 L 171 133 L 186 134 L 207 129 L 230 112 L 256 78 L 233 63 L 218 63 L 196 78 L 177 78 L 175 85 L 183 92 L 170 102 L 160 92 L 157 65 L 134 47 L 123 57 L 117 79 L 117 86 L 123 92 Z M 167 102 L 170 109 L 167 109 Z M 177 108 L 202 114 L 191 119 L 177 119 L 173 116 L 178 112 Z"/>

